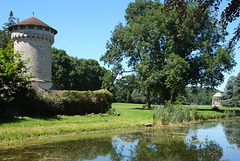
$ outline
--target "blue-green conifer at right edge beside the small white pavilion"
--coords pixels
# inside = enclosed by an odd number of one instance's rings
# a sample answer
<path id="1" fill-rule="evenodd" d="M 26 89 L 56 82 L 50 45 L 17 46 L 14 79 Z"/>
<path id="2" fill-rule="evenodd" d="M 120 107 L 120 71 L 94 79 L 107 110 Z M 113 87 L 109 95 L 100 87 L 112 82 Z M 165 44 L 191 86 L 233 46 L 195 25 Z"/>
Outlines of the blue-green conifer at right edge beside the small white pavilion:
<path id="1" fill-rule="evenodd" d="M 240 107 L 240 73 L 229 78 L 222 97 L 222 105 Z"/>

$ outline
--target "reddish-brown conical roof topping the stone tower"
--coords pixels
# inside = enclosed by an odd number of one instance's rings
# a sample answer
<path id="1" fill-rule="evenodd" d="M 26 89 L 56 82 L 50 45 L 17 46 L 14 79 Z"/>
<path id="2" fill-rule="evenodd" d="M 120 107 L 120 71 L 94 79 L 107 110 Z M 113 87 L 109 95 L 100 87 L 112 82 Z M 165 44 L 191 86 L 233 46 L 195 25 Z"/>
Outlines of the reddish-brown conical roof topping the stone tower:
<path id="1" fill-rule="evenodd" d="M 37 19 L 36 17 L 30 17 L 26 20 L 23 20 L 11 27 L 9 27 L 9 30 L 12 31 L 14 26 L 23 26 L 23 25 L 35 25 L 35 26 L 42 26 L 42 27 L 47 27 L 50 29 L 54 30 L 54 34 L 57 34 L 57 30 L 55 30 L 54 28 L 50 27 L 49 25 L 45 24 L 44 22 L 42 22 L 41 20 Z"/>

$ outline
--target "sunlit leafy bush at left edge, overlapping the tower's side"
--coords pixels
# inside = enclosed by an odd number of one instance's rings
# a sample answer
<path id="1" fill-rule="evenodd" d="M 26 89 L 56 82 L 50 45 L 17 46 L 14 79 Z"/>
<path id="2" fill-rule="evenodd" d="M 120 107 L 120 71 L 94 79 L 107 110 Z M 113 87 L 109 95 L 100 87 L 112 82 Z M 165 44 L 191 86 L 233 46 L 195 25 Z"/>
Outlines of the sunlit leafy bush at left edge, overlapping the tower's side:
<path id="1" fill-rule="evenodd" d="M 21 53 L 14 52 L 11 41 L 5 49 L 0 48 L 0 104 L 27 93 L 30 76 L 26 64 Z M 5 109 L 1 106 L 0 110 Z"/>

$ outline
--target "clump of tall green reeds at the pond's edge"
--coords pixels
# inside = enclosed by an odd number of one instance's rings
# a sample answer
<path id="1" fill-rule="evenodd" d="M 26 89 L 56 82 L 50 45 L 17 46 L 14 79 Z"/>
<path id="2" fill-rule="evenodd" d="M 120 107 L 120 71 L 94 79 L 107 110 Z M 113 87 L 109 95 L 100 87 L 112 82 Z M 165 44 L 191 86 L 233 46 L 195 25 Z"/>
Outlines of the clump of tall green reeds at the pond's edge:
<path id="1" fill-rule="evenodd" d="M 192 107 L 166 103 L 164 106 L 153 108 L 153 120 L 161 124 L 191 121 L 195 120 L 196 117 L 197 109 Z"/>

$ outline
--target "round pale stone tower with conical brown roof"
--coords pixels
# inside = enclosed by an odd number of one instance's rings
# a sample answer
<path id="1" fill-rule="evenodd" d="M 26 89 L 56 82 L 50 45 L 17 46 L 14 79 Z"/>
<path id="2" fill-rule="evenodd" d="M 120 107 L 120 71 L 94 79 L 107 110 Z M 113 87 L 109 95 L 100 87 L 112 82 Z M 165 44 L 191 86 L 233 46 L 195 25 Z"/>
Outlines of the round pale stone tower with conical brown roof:
<path id="1" fill-rule="evenodd" d="M 52 87 L 51 46 L 57 30 L 36 17 L 30 17 L 9 28 L 14 42 L 14 50 L 29 59 L 28 67 L 34 77 L 32 82 L 43 89 Z"/>

